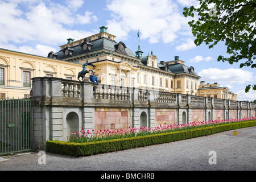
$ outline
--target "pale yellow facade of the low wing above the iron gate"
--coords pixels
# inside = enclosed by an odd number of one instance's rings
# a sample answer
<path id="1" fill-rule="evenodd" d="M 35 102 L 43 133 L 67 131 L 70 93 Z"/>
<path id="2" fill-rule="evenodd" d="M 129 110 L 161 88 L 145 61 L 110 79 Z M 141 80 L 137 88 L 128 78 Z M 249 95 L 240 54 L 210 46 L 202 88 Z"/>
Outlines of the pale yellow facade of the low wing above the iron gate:
<path id="1" fill-rule="evenodd" d="M 81 64 L 0 49 L 0 97 L 29 98 L 32 77 L 77 80 L 81 69 Z M 89 77 L 88 74 L 86 76 Z"/>

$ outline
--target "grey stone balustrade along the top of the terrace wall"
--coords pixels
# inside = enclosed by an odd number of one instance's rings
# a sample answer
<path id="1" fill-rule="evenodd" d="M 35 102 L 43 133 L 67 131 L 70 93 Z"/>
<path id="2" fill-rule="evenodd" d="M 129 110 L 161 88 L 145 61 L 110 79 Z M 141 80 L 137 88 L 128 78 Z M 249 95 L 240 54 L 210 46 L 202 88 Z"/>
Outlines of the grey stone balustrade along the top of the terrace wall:
<path id="1" fill-rule="evenodd" d="M 166 105 L 168 107 L 192 107 L 213 109 L 253 109 L 253 102 L 222 100 L 219 98 L 191 96 L 185 94 L 159 92 L 158 90 L 147 90 L 139 88 L 128 88 L 125 86 L 94 84 L 92 82 L 81 82 L 65 80 L 55 77 L 32 78 L 32 93 L 36 99 L 40 98 L 45 104 L 49 102 L 69 101 L 84 104 L 96 104 L 111 101 L 112 104 L 127 106 L 127 104 Z M 43 97 L 43 98 L 42 98 Z M 71 102 L 71 100 L 73 102 Z M 118 103 L 119 101 L 119 103 Z M 120 102 L 122 101 L 122 102 Z M 116 103 L 115 103 L 116 102 Z M 152 104 L 155 103 L 155 104 Z"/>

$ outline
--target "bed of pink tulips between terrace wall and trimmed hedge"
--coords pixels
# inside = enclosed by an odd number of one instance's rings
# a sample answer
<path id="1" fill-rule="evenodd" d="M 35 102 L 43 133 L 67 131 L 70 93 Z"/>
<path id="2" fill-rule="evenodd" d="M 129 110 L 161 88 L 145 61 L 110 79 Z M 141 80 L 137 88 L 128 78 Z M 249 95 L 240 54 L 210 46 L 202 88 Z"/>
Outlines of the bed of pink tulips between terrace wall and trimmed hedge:
<path id="1" fill-rule="evenodd" d="M 228 119 L 228 120 L 214 120 L 214 121 L 203 121 L 203 122 L 191 122 L 188 124 L 180 124 L 180 125 L 160 125 L 154 128 L 140 127 L 137 129 L 136 127 L 129 129 L 117 129 L 117 130 L 90 130 L 85 131 L 84 128 L 80 131 L 76 131 L 75 133 L 71 133 L 71 137 L 69 138 L 69 142 L 76 143 L 84 143 L 84 142 L 96 142 L 103 140 L 111 140 L 111 139 L 121 139 L 121 138 L 131 138 L 131 137 L 140 137 L 152 134 L 160 134 L 160 133 L 170 133 L 174 131 L 183 131 L 196 129 L 201 127 L 208 126 L 216 126 L 223 125 L 226 123 L 236 123 L 243 121 L 251 121 L 255 120 L 256 117 L 253 118 L 243 118 L 243 119 Z"/>

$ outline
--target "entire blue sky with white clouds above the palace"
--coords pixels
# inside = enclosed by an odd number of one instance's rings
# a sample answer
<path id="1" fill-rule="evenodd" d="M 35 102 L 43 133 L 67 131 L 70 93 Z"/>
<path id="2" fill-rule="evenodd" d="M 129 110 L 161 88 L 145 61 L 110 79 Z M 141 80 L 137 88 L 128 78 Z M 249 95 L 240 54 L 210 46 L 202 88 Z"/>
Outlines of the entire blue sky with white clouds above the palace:
<path id="1" fill-rule="evenodd" d="M 68 38 L 85 38 L 107 26 L 133 52 L 138 48 L 137 32 L 143 55 L 153 51 L 158 61 L 179 56 L 185 65 L 193 66 L 199 81 L 218 82 L 238 94 L 238 100 L 255 100 L 256 92 L 245 93 L 247 84 L 256 80 L 255 68 L 240 69 L 240 63 L 222 63 L 226 56 L 224 43 L 214 48 L 195 46 L 191 18 L 183 8 L 197 6 L 196 0 L 0 0 L 0 48 L 47 56 L 59 51 Z"/>

